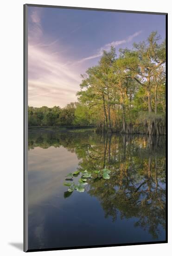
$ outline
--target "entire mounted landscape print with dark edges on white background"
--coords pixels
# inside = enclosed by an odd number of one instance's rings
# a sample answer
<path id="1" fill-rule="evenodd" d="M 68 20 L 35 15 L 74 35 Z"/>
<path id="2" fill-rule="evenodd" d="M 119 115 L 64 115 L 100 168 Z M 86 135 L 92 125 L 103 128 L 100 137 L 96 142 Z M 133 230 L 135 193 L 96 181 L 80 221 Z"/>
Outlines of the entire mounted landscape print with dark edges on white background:
<path id="1" fill-rule="evenodd" d="M 24 6 L 24 250 L 167 243 L 167 14 Z"/>

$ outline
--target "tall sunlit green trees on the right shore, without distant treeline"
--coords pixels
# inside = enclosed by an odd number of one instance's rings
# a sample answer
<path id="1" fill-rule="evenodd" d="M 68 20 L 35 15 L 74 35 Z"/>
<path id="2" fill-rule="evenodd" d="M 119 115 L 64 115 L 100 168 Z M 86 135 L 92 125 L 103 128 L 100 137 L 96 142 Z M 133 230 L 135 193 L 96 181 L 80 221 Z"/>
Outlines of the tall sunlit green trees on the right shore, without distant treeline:
<path id="1" fill-rule="evenodd" d="M 96 113 L 98 131 L 143 132 L 138 126 L 140 111 L 165 112 L 166 45 L 159 39 L 152 32 L 133 49 L 120 49 L 118 58 L 112 47 L 83 75 L 78 99 L 92 110 L 91 115 Z"/>

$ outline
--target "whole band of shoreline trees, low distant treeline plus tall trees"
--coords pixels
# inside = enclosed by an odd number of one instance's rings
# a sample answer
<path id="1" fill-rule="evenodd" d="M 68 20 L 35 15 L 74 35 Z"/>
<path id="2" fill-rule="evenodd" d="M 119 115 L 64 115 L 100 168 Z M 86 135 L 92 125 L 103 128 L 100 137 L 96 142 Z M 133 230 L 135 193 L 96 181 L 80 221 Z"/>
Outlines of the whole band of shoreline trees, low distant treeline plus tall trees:
<path id="1" fill-rule="evenodd" d="M 78 101 L 28 107 L 33 128 L 96 128 L 98 133 L 166 135 L 166 42 L 152 32 L 132 49 L 104 51 L 82 75 Z M 51 128 L 52 129 L 52 128 Z"/>

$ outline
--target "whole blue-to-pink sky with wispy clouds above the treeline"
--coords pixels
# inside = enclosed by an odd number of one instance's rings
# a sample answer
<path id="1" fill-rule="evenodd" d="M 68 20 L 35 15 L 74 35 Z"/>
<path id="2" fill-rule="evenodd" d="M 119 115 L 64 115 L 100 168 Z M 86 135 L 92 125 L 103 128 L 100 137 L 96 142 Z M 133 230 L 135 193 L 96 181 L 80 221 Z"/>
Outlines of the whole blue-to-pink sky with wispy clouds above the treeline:
<path id="1" fill-rule="evenodd" d="M 103 50 L 132 48 L 152 31 L 165 39 L 165 15 L 28 7 L 28 105 L 77 101 L 81 74 Z"/>

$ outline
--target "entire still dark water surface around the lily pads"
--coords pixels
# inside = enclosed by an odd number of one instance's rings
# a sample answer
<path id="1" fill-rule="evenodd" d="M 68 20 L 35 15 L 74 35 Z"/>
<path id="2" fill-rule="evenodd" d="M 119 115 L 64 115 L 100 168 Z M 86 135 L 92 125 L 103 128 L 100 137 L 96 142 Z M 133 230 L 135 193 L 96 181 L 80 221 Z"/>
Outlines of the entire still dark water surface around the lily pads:
<path id="1" fill-rule="evenodd" d="M 29 249 L 164 241 L 165 148 L 165 136 L 29 133 Z M 68 173 L 102 168 L 109 180 L 65 193 Z"/>

